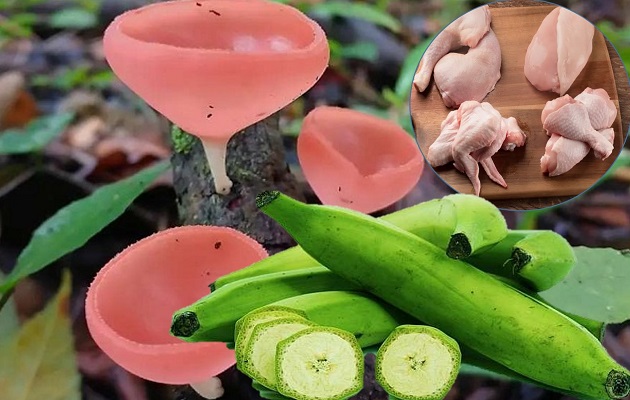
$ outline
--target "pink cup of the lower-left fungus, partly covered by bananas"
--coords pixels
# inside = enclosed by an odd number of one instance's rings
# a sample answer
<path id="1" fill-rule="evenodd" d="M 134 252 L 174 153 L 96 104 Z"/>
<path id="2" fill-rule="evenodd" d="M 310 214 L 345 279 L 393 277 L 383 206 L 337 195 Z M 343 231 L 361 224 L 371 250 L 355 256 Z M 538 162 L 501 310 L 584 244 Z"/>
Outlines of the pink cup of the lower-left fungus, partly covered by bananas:
<path id="1" fill-rule="evenodd" d="M 112 360 L 142 378 L 207 382 L 235 363 L 234 351 L 171 336 L 172 314 L 207 295 L 218 277 L 265 257 L 258 242 L 226 227 L 182 226 L 142 239 L 92 282 L 85 303 L 90 333 Z"/>

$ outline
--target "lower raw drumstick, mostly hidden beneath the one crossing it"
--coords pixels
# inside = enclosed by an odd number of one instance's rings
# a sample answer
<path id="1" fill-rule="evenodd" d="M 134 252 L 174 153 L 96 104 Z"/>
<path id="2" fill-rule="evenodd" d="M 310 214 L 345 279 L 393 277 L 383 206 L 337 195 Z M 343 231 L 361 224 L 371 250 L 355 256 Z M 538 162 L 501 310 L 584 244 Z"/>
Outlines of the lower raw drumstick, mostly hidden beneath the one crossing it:
<path id="1" fill-rule="evenodd" d="M 598 133 L 613 143 L 615 131 L 612 128 L 602 129 Z M 591 147 L 588 144 L 554 133 L 545 146 L 545 155 L 540 159 L 540 169 L 543 174 L 548 173 L 549 176 L 564 174 L 582 161 L 589 151 Z"/>

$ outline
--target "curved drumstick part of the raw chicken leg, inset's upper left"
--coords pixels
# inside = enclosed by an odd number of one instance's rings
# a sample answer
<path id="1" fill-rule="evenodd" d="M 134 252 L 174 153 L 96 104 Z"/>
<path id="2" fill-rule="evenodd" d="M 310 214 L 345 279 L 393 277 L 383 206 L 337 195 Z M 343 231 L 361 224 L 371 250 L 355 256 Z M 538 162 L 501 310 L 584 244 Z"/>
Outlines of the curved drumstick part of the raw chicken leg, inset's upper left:
<path id="1" fill-rule="evenodd" d="M 420 70 L 413 83 L 418 91 L 423 92 L 429 85 L 435 64 L 452 50 L 462 46 L 476 47 L 481 38 L 490 29 L 490 8 L 476 8 L 453 21 L 447 26 L 427 48 Z"/>

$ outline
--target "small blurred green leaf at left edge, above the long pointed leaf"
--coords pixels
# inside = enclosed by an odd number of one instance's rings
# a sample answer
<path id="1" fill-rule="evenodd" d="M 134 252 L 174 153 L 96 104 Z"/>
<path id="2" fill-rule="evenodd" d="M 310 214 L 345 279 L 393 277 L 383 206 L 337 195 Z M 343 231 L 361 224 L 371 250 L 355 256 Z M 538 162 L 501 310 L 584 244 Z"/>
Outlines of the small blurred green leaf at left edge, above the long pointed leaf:
<path id="1" fill-rule="evenodd" d="M 40 117 L 24 129 L 8 129 L 0 133 L 0 155 L 39 151 L 59 136 L 74 118 L 71 113 Z"/>

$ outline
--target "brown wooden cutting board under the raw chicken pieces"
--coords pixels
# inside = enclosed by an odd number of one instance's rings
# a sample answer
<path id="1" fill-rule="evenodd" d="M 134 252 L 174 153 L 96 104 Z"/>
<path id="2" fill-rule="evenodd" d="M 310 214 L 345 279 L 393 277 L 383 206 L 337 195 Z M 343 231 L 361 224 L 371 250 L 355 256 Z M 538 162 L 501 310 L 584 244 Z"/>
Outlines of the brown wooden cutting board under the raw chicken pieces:
<path id="1" fill-rule="evenodd" d="M 540 115 L 548 100 L 558 95 L 540 92 L 534 88 L 523 72 L 525 54 L 529 43 L 542 20 L 555 6 L 540 5 L 527 7 L 490 8 L 492 29 L 501 45 L 501 79 L 484 101 L 492 104 L 503 117 L 516 117 L 521 129 L 527 134 L 527 144 L 514 152 L 499 151 L 493 160 L 505 178 L 508 188 L 504 189 L 490 181 L 480 168 L 481 196 L 488 200 L 514 200 L 514 208 L 522 208 L 523 201 L 531 198 L 575 196 L 591 187 L 611 166 L 619 155 L 625 132 L 621 128 L 621 115 L 608 49 L 604 36 L 595 30 L 593 52 L 588 64 L 575 80 L 568 94 L 576 96 L 585 88 L 603 88 L 617 107 L 614 151 L 606 160 L 598 160 L 591 151 L 584 160 L 569 172 L 548 177 L 540 172 L 540 158 L 545 152 L 548 136 L 542 128 Z M 451 111 L 442 98 L 433 80 L 427 90 L 418 93 L 412 89 L 411 115 L 424 154 L 440 133 L 440 124 Z M 435 168 L 440 177 L 453 189 L 461 193 L 473 193 L 472 184 L 452 163 Z M 505 204 L 505 202 L 502 202 Z M 525 202 L 526 203 L 526 202 Z M 537 204 L 540 204 L 538 201 Z M 544 204 L 544 201 L 543 201 Z M 549 203 L 551 205 L 553 203 Z M 508 207 L 512 208 L 512 207 Z M 525 207 L 526 208 L 526 207 Z"/>

